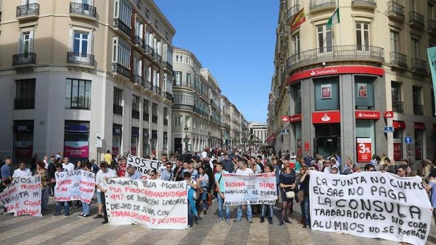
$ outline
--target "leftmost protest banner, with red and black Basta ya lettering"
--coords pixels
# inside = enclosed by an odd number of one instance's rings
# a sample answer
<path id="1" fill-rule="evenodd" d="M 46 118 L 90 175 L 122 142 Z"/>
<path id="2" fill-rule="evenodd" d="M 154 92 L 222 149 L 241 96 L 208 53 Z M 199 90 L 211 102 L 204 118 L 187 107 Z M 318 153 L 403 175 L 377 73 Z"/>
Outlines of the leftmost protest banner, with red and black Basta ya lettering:
<path id="1" fill-rule="evenodd" d="M 41 176 L 15 178 L 0 194 L 6 213 L 14 216 L 41 214 Z"/>

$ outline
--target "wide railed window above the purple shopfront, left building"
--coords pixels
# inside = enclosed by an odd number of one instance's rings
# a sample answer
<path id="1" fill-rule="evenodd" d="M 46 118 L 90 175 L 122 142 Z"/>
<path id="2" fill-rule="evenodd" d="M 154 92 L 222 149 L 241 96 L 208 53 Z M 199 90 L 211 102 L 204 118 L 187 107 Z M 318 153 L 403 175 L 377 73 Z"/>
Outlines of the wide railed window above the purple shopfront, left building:
<path id="1" fill-rule="evenodd" d="M 91 108 L 91 81 L 77 79 L 66 80 L 65 108 Z"/>

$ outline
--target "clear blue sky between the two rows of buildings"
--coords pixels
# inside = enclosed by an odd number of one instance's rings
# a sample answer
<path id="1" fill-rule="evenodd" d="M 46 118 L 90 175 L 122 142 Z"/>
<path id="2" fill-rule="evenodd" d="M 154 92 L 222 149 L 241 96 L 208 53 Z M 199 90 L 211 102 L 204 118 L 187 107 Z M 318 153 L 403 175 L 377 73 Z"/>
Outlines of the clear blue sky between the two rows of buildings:
<path id="1" fill-rule="evenodd" d="M 173 46 L 209 68 L 247 121 L 266 122 L 278 0 L 154 0 L 176 30 Z"/>

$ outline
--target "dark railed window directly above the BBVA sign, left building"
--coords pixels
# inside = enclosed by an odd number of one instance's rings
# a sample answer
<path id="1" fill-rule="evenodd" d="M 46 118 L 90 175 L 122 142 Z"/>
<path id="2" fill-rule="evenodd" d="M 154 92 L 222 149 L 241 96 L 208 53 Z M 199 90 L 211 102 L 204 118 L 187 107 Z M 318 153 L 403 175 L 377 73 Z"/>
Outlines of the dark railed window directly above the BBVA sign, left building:
<path id="1" fill-rule="evenodd" d="M 16 81 L 14 109 L 35 108 L 35 79 Z"/>

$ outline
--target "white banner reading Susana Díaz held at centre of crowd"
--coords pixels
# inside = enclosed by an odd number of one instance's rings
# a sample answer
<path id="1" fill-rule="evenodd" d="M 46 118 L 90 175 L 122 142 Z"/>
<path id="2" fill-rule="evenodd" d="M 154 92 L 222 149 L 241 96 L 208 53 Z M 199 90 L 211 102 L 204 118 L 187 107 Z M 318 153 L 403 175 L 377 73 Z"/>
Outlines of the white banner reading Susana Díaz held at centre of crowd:
<path id="1" fill-rule="evenodd" d="M 224 205 L 275 204 L 275 174 L 223 174 Z"/>

